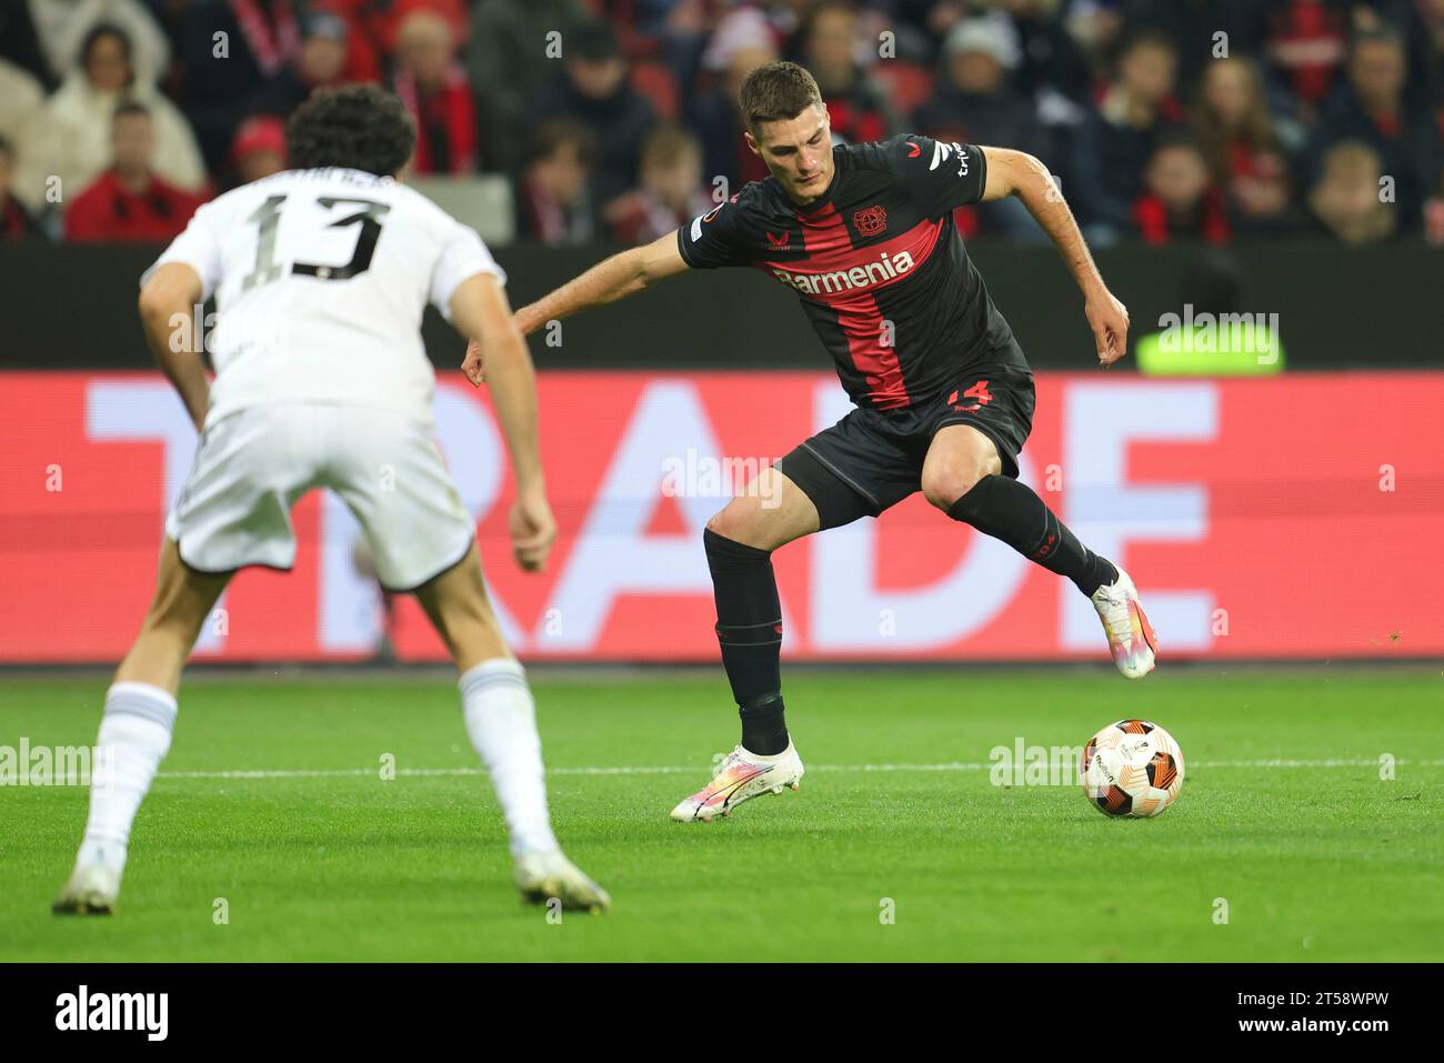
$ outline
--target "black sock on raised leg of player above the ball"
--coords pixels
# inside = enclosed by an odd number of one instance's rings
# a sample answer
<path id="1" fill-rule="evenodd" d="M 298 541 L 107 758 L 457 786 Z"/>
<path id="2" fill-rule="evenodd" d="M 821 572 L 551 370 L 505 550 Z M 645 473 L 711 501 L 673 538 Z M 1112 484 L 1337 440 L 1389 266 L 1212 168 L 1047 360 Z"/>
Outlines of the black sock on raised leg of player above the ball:
<path id="1" fill-rule="evenodd" d="M 983 477 L 953 503 L 947 516 L 1002 539 L 1028 560 L 1067 576 L 1089 596 L 1118 579 L 1118 569 L 1106 557 L 1083 546 L 1032 488 L 1017 480 Z"/>

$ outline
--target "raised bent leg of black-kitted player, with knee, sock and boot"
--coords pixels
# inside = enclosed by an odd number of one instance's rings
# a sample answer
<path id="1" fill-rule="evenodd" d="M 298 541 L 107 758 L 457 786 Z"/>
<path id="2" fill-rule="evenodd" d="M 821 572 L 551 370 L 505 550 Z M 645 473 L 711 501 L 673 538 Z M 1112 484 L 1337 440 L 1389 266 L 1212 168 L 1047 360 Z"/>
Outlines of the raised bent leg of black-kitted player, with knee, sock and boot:
<path id="1" fill-rule="evenodd" d="M 1129 679 L 1152 672 L 1158 638 L 1134 581 L 1083 546 L 1032 488 L 1002 475 L 998 448 L 983 432 L 949 425 L 933 436 L 923 462 L 923 494 L 953 520 L 1071 579 L 1097 609 L 1118 670 Z"/>

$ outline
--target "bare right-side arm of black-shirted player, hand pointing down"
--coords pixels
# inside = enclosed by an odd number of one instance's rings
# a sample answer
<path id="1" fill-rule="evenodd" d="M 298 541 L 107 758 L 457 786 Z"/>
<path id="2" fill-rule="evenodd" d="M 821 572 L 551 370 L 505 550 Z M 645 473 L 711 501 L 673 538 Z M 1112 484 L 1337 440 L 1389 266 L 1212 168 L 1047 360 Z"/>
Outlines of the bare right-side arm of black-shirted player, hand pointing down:
<path id="1" fill-rule="evenodd" d="M 1083 313 L 1097 341 L 1097 361 L 1108 368 L 1128 351 L 1128 308 L 1103 283 L 1063 192 L 1048 168 L 1027 152 L 1006 147 L 983 147 L 982 152 L 988 159 L 983 202 L 1018 196 L 1053 240 L 1083 290 Z"/>

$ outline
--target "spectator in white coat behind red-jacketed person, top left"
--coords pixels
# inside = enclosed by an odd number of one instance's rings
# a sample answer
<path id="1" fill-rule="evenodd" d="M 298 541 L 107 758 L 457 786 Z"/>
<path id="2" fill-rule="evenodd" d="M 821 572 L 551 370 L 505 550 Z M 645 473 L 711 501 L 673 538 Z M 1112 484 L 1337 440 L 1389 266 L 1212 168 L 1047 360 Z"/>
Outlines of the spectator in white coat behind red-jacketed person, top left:
<path id="1" fill-rule="evenodd" d="M 123 103 L 139 103 L 150 114 L 156 173 L 179 189 L 202 192 L 205 165 L 186 120 L 133 66 L 126 30 L 100 25 L 81 46 L 81 65 L 22 134 L 25 153 L 14 194 L 39 212 L 55 201 L 52 188 L 58 189 L 61 204 L 87 188 L 110 165 L 111 116 Z"/>

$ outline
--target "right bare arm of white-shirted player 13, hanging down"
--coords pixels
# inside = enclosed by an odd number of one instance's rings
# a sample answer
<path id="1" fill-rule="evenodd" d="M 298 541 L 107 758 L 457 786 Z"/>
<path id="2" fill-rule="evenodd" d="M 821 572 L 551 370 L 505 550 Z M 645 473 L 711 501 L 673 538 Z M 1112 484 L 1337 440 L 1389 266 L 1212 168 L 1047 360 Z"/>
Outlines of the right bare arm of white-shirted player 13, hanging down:
<path id="1" fill-rule="evenodd" d="M 451 298 L 451 312 L 458 331 L 487 352 L 491 400 L 517 480 L 510 517 L 513 553 L 521 568 L 539 572 L 556 539 L 556 520 L 542 474 L 531 352 L 511 318 L 505 290 L 491 273 L 464 280 Z"/>

